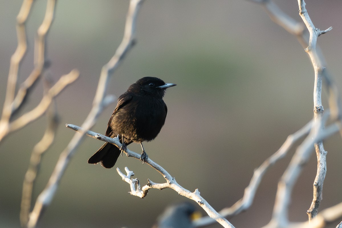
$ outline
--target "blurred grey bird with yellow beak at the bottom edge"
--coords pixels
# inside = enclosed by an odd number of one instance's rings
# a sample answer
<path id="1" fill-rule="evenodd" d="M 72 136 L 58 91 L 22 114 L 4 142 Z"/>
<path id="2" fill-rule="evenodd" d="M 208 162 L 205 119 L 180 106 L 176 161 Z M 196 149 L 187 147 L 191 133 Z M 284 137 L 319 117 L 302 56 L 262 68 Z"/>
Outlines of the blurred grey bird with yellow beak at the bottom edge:
<path id="1" fill-rule="evenodd" d="M 196 207 L 188 202 L 168 206 L 158 216 L 152 228 L 193 228 L 192 220 L 199 216 Z"/>

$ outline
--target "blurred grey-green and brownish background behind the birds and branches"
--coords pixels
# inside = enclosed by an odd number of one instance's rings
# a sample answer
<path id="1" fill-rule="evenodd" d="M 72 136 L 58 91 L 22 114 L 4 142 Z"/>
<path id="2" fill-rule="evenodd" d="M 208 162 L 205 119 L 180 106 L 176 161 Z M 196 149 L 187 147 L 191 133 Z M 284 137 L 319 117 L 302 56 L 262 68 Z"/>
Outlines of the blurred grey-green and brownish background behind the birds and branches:
<path id="1" fill-rule="evenodd" d="M 297 1 L 275 1 L 297 21 Z M 342 91 L 342 1 L 310 0 L 306 9 L 314 25 L 332 31 L 318 38 L 338 88 Z M 2 107 L 11 55 L 17 45 L 15 19 L 22 1 L 1 1 L 0 104 Z M 61 122 L 55 143 L 43 156 L 34 201 L 47 184 L 55 163 L 74 131 L 88 115 L 102 66 L 122 40 L 128 1 L 58 1 L 48 34 L 47 70 L 55 81 L 77 68 L 80 78 L 60 94 Z M 28 52 L 19 71 L 23 82 L 33 69 L 34 36 L 46 1 L 36 0 L 27 22 Z M 167 90 L 166 123 L 158 137 L 144 143 L 149 157 L 177 182 L 221 210 L 239 200 L 253 170 L 272 155 L 287 136 L 313 117 L 314 72 L 297 39 L 273 23 L 258 4 L 249 1 L 150 1 L 137 22 L 137 45 L 114 72 L 109 94 L 117 97 L 144 76 L 177 86 Z M 23 112 L 42 97 L 42 81 Z M 326 90 L 323 106 L 328 109 Z M 116 103 L 107 107 L 93 131 L 105 133 Z M 41 139 L 46 118 L 6 137 L 0 145 L 0 227 L 19 227 L 22 183 L 32 147 Z M 86 137 L 71 160 L 39 227 L 152 227 L 170 203 L 190 201 L 171 189 L 150 190 L 144 199 L 131 196 L 115 169 L 90 165 L 88 158 L 102 142 Z M 328 151 L 324 199 L 320 209 L 342 201 L 341 138 L 325 141 Z M 139 145 L 130 150 L 141 152 Z M 235 227 L 260 227 L 271 218 L 277 182 L 294 149 L 265 175 L 250 209 L 229 221 Z M 138 160 L 120 157 L 115 167 L 128 166 L 140 179 L 164 179 Z M 307 220 L 316 175 L 314 153 L 294 187 L 289 217 Z M 200 207 L 197 205 L 199 210 Z M 206 215 L 202 211 L 203 215 Z M 335 227 L 338 224 L 333 225 Z M 216 224 L 211 227 L 221 227 Z"/>

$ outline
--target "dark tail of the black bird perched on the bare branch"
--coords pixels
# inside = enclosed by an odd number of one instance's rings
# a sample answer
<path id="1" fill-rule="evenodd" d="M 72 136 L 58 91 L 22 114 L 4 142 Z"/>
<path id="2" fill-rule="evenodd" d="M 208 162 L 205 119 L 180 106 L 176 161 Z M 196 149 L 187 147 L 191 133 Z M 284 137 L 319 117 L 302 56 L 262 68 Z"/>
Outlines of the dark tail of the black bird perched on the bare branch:
<path id="1" fill-rule="evenodd" d="M 120 155 L 121 151 L 119 148 L 110 143 L 105 143 L 100 149 L 94 153 L 88 159 L 89 164 L 97 164 L 101 162 L 101 165 L 107 169 L 110 169 L 115 165 L 116 160 Z"/>

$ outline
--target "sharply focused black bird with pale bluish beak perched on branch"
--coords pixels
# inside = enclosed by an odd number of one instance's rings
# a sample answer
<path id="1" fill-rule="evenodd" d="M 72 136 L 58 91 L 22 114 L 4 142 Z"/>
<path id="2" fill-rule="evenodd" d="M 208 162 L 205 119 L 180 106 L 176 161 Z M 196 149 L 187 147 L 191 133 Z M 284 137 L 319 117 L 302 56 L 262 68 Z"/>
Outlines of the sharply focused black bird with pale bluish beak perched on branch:
<path id="1" fill-rule="evenodd" d="M 165 83 L 155 77 L 144 77 L 131 84 L 126 92 L 118 98 L 118 104 L 111 115 L 106 136 L 119 136 L 122 147 L 119 149 L 111 143 L 105 143 L 89 158 L 88 163 L 101 165 L 110 169 L 115 165 L 121 150 L 132 142 L 141 144 L 141 159 L 147 158 L 142 142 L 152 141 L 159 134 L 165 123 L 168 109 L 163 101 L 166 88 L 176 84 Z"/>

